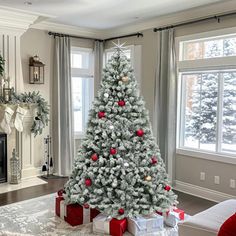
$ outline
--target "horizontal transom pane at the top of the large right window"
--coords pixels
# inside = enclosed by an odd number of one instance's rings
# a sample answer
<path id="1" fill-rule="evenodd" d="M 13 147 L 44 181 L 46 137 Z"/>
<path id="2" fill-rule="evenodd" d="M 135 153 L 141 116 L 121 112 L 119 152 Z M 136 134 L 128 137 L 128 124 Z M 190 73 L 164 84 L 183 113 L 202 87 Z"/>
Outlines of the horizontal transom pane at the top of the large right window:
<path id="1" fill-rule="evenodd" d="M 183 42 L 183 60 L 236 56 L 236 36 Z"/>

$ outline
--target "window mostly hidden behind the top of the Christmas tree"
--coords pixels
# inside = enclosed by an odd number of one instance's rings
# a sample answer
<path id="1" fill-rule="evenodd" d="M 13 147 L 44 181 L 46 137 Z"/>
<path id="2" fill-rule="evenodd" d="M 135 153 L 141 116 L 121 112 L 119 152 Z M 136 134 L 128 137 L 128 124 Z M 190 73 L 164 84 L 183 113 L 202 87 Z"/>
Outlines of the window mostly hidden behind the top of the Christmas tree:
<path id="1" fill-rule="evenodd" d="M 141 54 L 142 54 L 141 45 L 131 45 L 126 46 L 126 50 L 124 50 L 124 54 L 131 61 L 131 65 L 134 68 L 135 78 L 137 80 L 138 85 L 141 85 Z M 105 50 L 105 63 L 111 59 L 114 50 L 112 48 Z M 141 86 L 140 86 L 141 89 Z"/>

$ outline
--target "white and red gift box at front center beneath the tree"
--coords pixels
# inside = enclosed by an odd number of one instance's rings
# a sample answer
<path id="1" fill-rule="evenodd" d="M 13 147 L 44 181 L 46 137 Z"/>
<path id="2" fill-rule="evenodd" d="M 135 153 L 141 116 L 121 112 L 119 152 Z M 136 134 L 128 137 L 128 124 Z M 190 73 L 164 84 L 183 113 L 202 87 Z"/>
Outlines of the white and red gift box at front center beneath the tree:
<path id="1" fill-rule="evenodd" d="M 112 236 L 122 236 L 127 229 L 127 219 L 117 220 L 108 218 L 104 214 L 99 214 L 93 219 L 93 232 L 109 234 Z"/>

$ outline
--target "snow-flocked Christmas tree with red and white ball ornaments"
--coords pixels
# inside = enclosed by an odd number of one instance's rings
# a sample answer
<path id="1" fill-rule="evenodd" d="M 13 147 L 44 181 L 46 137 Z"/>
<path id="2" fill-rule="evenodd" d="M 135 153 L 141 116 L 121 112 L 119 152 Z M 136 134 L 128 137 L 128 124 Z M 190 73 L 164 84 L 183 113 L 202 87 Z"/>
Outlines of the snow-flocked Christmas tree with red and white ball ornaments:
<path id="1" fill-rule="evenodd" d="M 165 212 L 177 203 L 121 46 L 104 69 L 65 192 L 68 203 L 117 219 Z"/>

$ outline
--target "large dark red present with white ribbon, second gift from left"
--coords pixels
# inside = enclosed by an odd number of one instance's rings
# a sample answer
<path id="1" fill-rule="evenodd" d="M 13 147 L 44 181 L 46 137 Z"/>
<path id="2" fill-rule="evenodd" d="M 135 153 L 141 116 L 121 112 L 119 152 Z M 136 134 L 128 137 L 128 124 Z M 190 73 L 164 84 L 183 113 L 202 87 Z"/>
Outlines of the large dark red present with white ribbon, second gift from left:
<path id="1" fill-rule="evenodd" d="M 100 212 L 87 206 L 70 204 L 66 206 L 65 221 L 72 226 L 88 224 L 93 221 Z"/>

